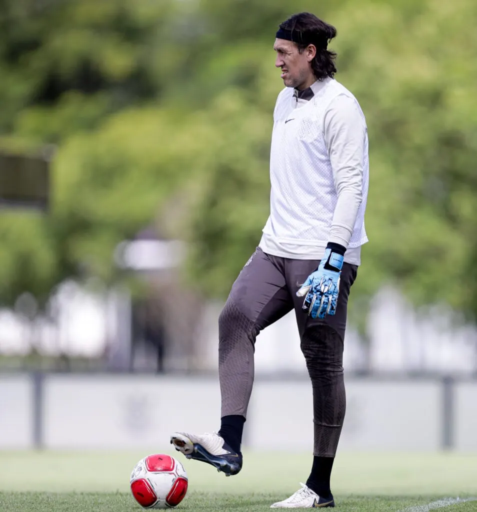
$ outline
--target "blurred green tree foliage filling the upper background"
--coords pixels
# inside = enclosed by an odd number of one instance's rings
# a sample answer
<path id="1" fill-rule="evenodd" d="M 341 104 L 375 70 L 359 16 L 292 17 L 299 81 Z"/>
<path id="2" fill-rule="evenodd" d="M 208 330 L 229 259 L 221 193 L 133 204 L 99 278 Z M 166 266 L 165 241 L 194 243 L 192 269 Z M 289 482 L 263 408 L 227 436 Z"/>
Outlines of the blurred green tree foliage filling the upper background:
<path id="1" fill-rule="evenodd" d="M 352 301 L 385 282 L 477 313 L 477 4 L 298 0 L 338 29 L 337 79 L 365 112 L 371 243 Z M 0 301 L 67 276 L 120 279 L 153 222 L 225 297 L 269 205 L 285 0 L 0 0 L 0 147 L 55 144 L 53 206 L 0 216 Z"/>

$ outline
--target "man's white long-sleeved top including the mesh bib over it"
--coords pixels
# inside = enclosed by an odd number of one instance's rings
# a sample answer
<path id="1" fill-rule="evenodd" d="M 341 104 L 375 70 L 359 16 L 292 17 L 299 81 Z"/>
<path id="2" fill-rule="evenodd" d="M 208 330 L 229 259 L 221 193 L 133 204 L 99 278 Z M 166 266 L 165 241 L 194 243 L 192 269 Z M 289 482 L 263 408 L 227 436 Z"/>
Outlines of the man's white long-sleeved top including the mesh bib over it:
<path id="1" fill-rule="evenodd" d="M 270 155 L 270 216 L 259 246 L 285 258 L 322 258 L 328 242 L 359 265 L 367 242 L 364 211 L 368 140 L 356 98 L 332 78 L 307 99 L 278 95 Z"/>

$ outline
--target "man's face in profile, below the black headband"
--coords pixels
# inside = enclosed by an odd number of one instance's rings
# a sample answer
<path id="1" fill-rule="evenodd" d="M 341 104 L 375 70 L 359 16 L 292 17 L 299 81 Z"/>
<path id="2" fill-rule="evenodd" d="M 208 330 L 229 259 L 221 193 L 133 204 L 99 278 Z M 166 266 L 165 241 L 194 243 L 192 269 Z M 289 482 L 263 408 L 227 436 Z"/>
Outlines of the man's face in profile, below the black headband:
<path id="1" fill-rule="evenodd" d="M 310 62 L 316 49 L 313 45 L 301 53 L 293 41 L 275 39 L 273 49 L 276 52 L 275 66 L 281 68 L 281 78 L 286 87 L 306 89 L 315 81 Z"/>

